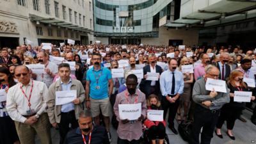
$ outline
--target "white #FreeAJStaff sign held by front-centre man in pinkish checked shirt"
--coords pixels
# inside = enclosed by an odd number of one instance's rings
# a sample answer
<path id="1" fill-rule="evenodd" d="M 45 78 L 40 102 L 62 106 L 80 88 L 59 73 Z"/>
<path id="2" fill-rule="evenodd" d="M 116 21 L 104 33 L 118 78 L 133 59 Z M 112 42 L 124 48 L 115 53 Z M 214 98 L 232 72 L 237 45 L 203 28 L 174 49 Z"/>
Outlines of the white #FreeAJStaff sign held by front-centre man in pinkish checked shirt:
<path id="1" fill-rule="evenodd" d="M 137 120 L 141 116 L 141 102 L 138 104 L 118 104 L 121 120 Z"/>

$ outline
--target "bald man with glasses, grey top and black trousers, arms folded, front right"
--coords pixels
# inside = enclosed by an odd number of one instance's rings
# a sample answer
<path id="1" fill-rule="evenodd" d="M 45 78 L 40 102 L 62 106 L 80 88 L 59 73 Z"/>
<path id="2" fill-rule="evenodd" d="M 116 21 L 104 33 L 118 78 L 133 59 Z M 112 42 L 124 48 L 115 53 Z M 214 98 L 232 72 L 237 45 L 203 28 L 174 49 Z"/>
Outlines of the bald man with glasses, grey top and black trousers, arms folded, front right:
<path id="1" fill-rule="evenodd" d="M 193 87 L 192 98 L 196 103 L 195 114 L 194 114 L 194 127 L 192 132 L 193 141 L 192 143 L 199 143 L 199 134 L 201 133 L 201 143 L 211 143 L 214 128 L 220 115 L 221 107 L 228 103 L 229 92 L 227 93 L 215 92 L 213 89 L 211 92 L 205 89 L 207 78 L 218 79 L 220 70 L 217 67 L 208 65 L 205 68 L 205 76 L 202 79 L 196 81 Z"/>

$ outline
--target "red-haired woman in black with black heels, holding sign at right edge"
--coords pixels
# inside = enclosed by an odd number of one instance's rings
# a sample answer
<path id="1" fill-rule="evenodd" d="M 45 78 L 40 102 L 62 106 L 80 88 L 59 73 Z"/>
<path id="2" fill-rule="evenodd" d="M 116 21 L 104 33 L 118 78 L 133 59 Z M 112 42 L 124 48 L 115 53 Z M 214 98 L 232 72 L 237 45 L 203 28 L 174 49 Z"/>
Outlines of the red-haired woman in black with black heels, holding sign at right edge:
<path id="1" fill-rule="evenodd" d="M 220 117 L 216 124 L 216 135 L 219 138 L 223 138 L 221 134 L 221 127 L 225 121 L 227 121 L 227 135 L 232 140 L 236 140 L 235 136 L 232 134 L 232 129 L 234 128 L 236 119 L 242 113 L 242 110 L 245 108 L 245 102 L 235 102 L 234 101 L 234 92 L 248 92 L 248 86 L 243 81 L 244 74 L 241 70 L 233 70 L 230 73 L 229 79 L 227 81 L 227 86 L 230 89 L 230 102 L 225 104 L 221 108 Z M 255 97 L 252 96 L 251 100 L 255 100 Z"/>

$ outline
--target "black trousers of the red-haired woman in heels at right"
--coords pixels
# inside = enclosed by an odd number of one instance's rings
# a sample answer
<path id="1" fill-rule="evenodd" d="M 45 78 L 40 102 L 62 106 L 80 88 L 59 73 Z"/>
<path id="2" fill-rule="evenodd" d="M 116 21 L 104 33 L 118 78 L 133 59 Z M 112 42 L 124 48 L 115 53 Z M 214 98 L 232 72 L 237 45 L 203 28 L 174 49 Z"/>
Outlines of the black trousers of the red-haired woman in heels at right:
<path id="1" fill-rule="evenodd" d="M 227 120 L 227 129 L 232 130 L 234 128 L 236 119 L 242 113 L 243 108 L 241 107 L 227 107 L 223 106 L 220 111 L 220 116 L 218 118 L 218 122 L 216 127 L 221 129 L 222 125 L 224 124 L 225 120 Z"/>

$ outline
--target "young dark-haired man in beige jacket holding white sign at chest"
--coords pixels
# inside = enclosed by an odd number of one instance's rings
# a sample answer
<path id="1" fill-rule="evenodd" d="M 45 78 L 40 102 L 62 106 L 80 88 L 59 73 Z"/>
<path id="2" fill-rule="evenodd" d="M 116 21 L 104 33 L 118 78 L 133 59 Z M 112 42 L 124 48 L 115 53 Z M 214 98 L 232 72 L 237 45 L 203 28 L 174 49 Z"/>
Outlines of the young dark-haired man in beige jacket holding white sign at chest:
<path id="1" fill-rule="evenodd" d="M 83 111 L 85 92 L 80 81 L 71 79 L 68 63 L 61 63 L 58 70 L 60 79 L 49 87 L 47 113 L 52 126 L 60 129 L 60 144 L 62 144 L 69 131 L 69 124 L 72 125 L 72 129 L 78 127 L 77 119 L 79 113 Z"/>

